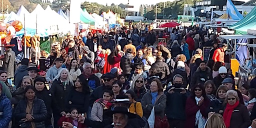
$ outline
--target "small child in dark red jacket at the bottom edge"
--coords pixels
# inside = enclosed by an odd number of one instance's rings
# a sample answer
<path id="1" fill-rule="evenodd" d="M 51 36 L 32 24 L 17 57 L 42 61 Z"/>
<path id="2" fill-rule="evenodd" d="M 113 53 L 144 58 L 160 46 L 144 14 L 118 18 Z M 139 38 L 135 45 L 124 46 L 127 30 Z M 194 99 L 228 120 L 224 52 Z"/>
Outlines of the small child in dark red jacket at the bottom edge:
<path id="1" fill-rule="evenodd" d="M 58 120 L 58 126 L 62 126 L 62 122 L 70 122 L 72 125 L 76 127 L 86 127 L 85 124 L 78 122 L 78 112 L 76 108 L 71 108 L 69 111 L 70 113 L 67 113 L 66 115 L 62 116 Z"/>

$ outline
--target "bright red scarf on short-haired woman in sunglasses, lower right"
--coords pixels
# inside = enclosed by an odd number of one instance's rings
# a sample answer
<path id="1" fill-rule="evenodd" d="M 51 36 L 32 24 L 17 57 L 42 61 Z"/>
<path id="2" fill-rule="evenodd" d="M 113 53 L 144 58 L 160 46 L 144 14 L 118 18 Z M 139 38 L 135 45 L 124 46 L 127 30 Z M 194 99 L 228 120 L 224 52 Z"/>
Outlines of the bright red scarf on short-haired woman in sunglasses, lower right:
<path id="1" fill-rule="evenodd" d="M 226 108 L 224 110 L 223 114 L 223 120 L 227 128 L 230 127 L 230 120 L 232 116 L 232 112 L 236 106 L 239 105 L 239 101 L 237 100 L 233 105 L 230 105 L 229 103 L 226 103 Z"/>

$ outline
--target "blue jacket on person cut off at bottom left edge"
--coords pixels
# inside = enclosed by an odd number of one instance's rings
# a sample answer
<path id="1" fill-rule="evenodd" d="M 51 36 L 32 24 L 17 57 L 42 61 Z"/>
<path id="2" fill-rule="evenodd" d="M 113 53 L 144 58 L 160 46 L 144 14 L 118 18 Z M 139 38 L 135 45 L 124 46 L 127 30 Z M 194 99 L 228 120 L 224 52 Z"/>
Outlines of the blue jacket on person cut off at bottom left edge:
<path id="1" fill-rule="evenodd" d="M 10 100 L 2 93 L 0 95 L 0 127 L 7 128 L 11 119 L 12 109 Z"/>

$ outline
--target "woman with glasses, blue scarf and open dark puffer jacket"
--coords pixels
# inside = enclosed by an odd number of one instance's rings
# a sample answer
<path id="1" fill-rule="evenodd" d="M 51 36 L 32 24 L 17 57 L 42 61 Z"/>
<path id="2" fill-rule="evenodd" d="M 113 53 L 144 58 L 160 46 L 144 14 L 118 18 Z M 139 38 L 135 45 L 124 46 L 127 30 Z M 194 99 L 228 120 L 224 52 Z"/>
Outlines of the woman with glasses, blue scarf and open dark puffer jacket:
<path id="1" fill-rule="evenodd" d="M 150 91 L 145 93 L 141 99 L 143 115 L 148 118 L 154 106 L 155 118 L 163 118 L 166 107 L 166 95 L 163 94 L 163 88 L 160 80 L 155 78 L 150 83 Z"/>

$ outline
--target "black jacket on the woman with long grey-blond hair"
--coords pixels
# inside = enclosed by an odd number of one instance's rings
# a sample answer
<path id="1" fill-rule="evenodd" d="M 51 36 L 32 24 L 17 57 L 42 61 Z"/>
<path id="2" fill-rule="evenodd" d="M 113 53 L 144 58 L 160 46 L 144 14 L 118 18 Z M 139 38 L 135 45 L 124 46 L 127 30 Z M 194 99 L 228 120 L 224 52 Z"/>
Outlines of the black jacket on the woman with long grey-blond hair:
<path id="1" fill-rule="evenodd" d="M 52 82 L 50 92 L 52 94 L 52 98 L 54 101 L 54 106 L 56 112 L 60 113 L 61 111 L 68 111 L 66 107 L 65 101 L 67 100 L 67 92 L 72 88 L 71 83 L 67 83 L 67 85 L 64 87 L 60 79 L 55 79 Z"/>

